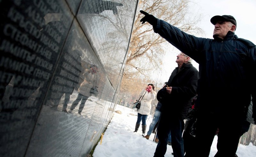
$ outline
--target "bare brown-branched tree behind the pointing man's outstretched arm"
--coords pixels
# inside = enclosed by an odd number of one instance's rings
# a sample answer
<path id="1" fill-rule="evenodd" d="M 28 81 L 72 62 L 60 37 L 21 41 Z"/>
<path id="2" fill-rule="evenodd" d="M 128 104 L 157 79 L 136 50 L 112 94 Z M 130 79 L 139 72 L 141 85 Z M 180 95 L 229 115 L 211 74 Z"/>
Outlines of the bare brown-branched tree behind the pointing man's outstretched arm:
<path id="1" fill-rule="evenodd" d="M 132 30 L 121 91 L 127 90 L 127 86 L 134 83 L 133 80 L 138 82 L 139 79 L 148 78 L 150 73 L 161 70 L 162 57 L 165 55 L 162 48 L 164 44 L 167 44 L 167 41 L 154 33 L 153 27 L 147 22 L 141 24 L 140 19 L 144 15 L 139 10 L 146 11 L 184 32 L 202 33 L 202 29 L 196 26 L 201 15 L 189 14 L 189 3 L 192 2 L 188 0 L 140 0 Z"/>

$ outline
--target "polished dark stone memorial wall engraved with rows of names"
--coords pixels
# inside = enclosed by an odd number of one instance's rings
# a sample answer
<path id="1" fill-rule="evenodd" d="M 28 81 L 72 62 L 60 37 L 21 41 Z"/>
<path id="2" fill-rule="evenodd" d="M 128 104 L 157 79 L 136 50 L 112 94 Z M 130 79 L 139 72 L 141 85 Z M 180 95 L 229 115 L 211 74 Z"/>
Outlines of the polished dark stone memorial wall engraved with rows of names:
<path id="1" fill-rule="evenodd" d="M 137 3 L 0 1 L 1 156 L 90 153 L 112 117 Z"/>

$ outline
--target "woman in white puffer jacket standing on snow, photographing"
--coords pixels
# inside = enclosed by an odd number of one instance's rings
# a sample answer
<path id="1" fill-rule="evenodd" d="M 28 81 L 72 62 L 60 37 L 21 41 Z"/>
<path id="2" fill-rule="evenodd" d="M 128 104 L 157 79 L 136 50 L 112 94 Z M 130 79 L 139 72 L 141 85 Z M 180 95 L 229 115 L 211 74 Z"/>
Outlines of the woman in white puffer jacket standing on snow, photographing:
<path id="1" fill-rule="evenodd" d="M 135 125 L 135 131 L 137 132 L 140 127 L 140 122 L 142 121 L 142 136 L 144 137 L 146 132 L 146 120 L 151 110 L 151 101 L 156 98 L 155 86 L 153 84 L 148 84 L 145 89 L 142 89 L 140 92 L 141 97 L 143 97 L 140 101 L 140 109 L 137 109 L 138 118 Z"/>

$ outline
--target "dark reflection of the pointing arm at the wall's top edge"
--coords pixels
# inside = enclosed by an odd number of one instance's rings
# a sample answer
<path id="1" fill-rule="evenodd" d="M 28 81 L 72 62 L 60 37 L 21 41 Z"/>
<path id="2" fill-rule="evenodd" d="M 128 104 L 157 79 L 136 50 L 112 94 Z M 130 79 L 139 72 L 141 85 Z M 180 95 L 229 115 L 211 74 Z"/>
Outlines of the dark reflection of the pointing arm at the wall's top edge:
<path id="1" fill-rule="evenodd" d="M 100 14 L 105 10 L 112 10 L 114 15 L 117 15 L 117 6 L 123 6 L 122 3 L 116 3 L 112 1 L 102 1 L 102 0 L 85 0 L 80 8 L 80 14 Z"/>

